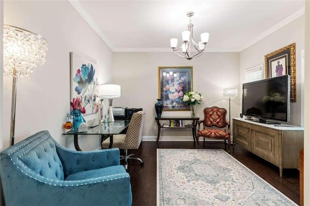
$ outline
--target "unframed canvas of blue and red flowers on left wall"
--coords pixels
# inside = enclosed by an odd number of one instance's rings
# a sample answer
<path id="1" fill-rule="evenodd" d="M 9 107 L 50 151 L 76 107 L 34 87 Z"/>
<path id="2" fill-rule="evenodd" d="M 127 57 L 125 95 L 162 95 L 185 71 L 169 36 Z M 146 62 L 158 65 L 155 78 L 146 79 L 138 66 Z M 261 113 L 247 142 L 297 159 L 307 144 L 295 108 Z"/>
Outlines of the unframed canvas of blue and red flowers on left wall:
<path id="1" fill-rule="evenodd" d="M 83 115 L 98 112 L 97 65 L 94 60 L 70 52 L 70 110 Z"/>

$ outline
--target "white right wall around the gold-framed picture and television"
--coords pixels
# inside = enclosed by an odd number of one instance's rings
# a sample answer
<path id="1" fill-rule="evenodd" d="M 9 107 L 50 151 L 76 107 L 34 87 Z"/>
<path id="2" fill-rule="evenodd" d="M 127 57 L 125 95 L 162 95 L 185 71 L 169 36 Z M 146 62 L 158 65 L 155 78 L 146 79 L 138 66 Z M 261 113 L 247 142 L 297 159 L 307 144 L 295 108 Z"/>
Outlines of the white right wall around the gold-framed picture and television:
<path id="1" fill-rule="evenodd" d="M 240 86 L 244 83 L 245 70 L 263 64 L 264 55 L 284 46 L 296 43 L 296 102 L 291 103 L 290 124 L 300 126 L 301 111 L 301 50 L 305 48 L 305 16 L 301 16 L 288 25 L 275 31 L 269 36 L 240 53 Z M 263 66 L 264 68 L 264 66 Z"/>

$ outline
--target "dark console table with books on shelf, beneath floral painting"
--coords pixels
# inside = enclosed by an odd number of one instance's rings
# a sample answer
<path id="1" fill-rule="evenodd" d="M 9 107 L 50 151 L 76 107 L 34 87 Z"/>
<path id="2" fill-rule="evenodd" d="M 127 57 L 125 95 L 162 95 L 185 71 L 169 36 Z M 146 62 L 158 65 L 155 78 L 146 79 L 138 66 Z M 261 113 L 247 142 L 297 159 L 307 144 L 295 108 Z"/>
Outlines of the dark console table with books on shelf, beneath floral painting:
<path id="1" fill-rule="evenodd" d="M 197 123 L 199 118 L 198 117 L 161 117 L 161 118 L 155 118 L 157 122 L 157 127 L 158 127 L 158 132 L 157 132 L 157 140 L 156 143 L 158 145 L 159 142 L 159 136 L 160 136 L 160 129 L 161 128 L 166 128 L 166 129 L 186 129 L 190 128 L 192 129 L 193 132 L 193 139 L 194 143 L 196 140 L 196 135 L 197 135 Z M 190 124 L 185 124 L 185 120 L 191 121 Z M 170 124 L 161 124 L 160 121 L 169 121 Z"/>

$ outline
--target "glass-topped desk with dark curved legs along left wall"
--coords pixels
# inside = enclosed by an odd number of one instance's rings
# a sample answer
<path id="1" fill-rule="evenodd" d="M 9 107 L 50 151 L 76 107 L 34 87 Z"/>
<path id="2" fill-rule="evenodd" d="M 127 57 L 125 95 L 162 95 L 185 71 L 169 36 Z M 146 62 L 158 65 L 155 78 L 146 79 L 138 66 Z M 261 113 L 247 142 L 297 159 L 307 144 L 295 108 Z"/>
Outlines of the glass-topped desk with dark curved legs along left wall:
<path id="1" fill-rule="evenodd" d="M 73 135 L 74 136 L 74 147 L 76 147 L 77 151 L 82 151 L 78 146 L 78 135 L 100 135 L 101 142 L 110 138 L 109 148 L 113 145 L 113 134 L 119 134 L 123 132 L 129 125 L 130 120 L 118 120 L 109 123 L 99 124 L 96 127 L 89 127 L 87 132 L 67 132 L 63 133 L 65 135 Z"/>

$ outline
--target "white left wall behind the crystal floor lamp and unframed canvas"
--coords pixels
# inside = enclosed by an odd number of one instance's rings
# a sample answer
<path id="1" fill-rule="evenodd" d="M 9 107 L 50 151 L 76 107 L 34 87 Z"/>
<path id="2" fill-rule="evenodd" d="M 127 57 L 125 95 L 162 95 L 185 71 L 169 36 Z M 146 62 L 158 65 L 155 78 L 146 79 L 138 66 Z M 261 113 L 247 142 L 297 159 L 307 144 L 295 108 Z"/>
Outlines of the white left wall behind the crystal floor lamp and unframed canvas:
<path id="1" fill-rule="evenodd" d="M 112 51 L 68 1 L 4 1 L 4 23 L 39 33 L 48 42 L 45 65 L 35 68 L 29 80 L 17 80 L 15 142 L 48 130 L 62 145 L 72 147 L 73 137 L 62 135 L 70 112 L 69 52 L 95 59 L 99 82 L 105 83 L 112 77 Z M 4 77 L 3 148 L 9 146 L 11 92 L 12 80 Z M 79 138 L 82 149 L 98 147 L 99 137 L 89 138 L 87 144 L 84 139 Z"/>

